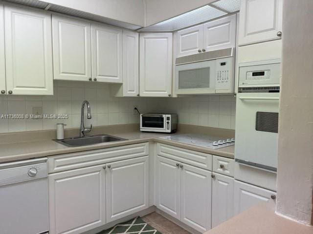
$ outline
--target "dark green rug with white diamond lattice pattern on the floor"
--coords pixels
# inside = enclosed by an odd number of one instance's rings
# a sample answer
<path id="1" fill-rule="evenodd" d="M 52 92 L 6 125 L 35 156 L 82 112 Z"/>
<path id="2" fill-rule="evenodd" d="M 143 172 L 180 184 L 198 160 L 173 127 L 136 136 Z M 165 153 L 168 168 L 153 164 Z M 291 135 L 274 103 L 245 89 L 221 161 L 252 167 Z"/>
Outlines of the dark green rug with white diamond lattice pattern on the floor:
<path id="1" fill-rule="evenodd" d="M 124 223 L 116 224 L 114 227 L 104 230 L 98 234 L 161 234 L 151 227 L 140 217 L 136 217 Z"/>

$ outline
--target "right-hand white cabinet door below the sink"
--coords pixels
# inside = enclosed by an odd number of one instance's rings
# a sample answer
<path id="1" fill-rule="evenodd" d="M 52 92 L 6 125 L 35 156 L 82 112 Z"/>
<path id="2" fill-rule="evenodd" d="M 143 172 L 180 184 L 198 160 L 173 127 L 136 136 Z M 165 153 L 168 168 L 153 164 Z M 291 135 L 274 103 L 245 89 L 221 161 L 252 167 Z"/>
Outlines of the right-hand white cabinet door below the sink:
<path id="1" fill-rule="evenodd" d="M 148 156 L 107 164 L 107 222 L 148 208 Z"/>

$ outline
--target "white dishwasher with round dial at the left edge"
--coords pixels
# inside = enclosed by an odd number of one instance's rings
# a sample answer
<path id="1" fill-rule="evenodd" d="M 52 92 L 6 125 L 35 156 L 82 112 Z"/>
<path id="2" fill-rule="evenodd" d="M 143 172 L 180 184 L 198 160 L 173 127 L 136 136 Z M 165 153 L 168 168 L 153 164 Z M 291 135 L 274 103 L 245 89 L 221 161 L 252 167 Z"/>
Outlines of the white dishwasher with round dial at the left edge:
<path id="1" fill-rule="evenodd" d="M 47 234 L 47 158 L 0 164 L 0 234 Z"/>

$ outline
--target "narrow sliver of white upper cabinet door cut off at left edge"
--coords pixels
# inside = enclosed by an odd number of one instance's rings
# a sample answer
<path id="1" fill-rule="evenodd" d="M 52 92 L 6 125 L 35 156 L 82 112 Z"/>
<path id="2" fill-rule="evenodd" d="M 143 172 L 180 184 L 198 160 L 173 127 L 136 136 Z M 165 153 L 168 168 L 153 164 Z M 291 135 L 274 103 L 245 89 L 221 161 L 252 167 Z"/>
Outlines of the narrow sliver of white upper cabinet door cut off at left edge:
<path id="1" fill-rule="evenodd" d="M 4 55 L 4 10 L 3 4 L 0 4 L 0 95 L 6 94 Z"/>

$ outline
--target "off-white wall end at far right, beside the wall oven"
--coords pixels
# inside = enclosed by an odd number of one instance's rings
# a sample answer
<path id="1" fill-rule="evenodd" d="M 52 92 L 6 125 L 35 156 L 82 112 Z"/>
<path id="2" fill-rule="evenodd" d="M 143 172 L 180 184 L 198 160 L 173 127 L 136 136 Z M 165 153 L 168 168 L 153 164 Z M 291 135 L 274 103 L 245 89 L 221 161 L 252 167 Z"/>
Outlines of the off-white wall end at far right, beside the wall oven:
<path id="1" fill-rule="evenodd" d="M 283 9 L 276 211 L 313 224 L 313 1 Z"/>

